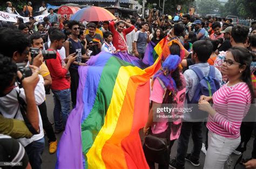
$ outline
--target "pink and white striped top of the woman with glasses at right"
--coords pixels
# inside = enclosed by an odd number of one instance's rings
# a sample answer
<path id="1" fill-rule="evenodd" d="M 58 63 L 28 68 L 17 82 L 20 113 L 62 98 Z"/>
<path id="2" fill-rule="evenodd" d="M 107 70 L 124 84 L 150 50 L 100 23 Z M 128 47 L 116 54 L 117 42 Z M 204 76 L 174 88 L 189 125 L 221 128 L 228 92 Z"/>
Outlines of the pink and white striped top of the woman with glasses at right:
<path id="1" fill-rule="evenodd" d="M 234 86 L 227 84 L 213 94 L 213 108 L 217 114 L 208 116 L 207 128 L 223 137 L 238 138 L 242 119 L 250 109 L 251 93 L 244 82 Z"/>

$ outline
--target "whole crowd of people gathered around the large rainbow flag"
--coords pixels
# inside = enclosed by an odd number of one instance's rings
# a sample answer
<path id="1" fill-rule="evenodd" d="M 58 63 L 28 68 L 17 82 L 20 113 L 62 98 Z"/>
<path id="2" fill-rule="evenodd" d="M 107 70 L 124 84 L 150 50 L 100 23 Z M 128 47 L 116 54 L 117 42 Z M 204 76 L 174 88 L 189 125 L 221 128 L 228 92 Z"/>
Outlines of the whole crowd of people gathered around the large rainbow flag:
<path id="1" fill-rule="evenodd" d="M 11 3 L 6 4 L 6 10 L 14 13 Z M 39 11 L 48 14 L 44 2 Z M 256 136 L 256 123 L 242 122 L 256 96 L 256 23 L 251 27 L 234 26 L 232 19 L 188 14 L 171 19 L 152 9 L 147 18 L 86 24 L 65 20 L 61 25 L 52 9 L 40 23 L 32 17 L 31 2 L 23 12 L 29 16 L 28 23 L 22 18 L 17 23 L 0 23 L 0 161 L 22 161 L 24 168 L 41 168 L 44 135 L 48 137 L 49 153 L 55 153 L 56 133 L 65 130 L 70 103 L 76 107 L 78 68 L 100 52 L 127 52 L 143 60 L 149 44 L 156 46 L 163 39 L 173 41 L 168 46 L 171 55 L 152 78 L 152 105 L 143 132 L 146 137 L 166 138 L 168 147 L 156 157 L 144 144 L 150 168 L 154 163 L 159 168 L 184 168 L 185 161 L 199 166 L 201 149 L 206 154 L 204 168 L 223 168 L 231 153 L 241 154 L 246 149 L 253 130 Z M 33 52 L 36 49 L 38 52 Z M 186 51 L 185 56 L 181 56 L 182 50 Z M 55 58 L 45 57 L 51 54 Z M 213 87 L 211 94 L 199 91 L 204 78 L 212 79 L 206 83 Z M 50 89 L 54 130 L 45 100 Z M 154 108 L 169 103 L 198 104 L 200 110 L 208 112 L 207 133 L 203 132 L 205 118 L 200 122 L 191 118 L 154 122 Z M 213 107 L 210 103 L 214 103 Z M 187 154 L 190 134 L 193 149 Z M 177 157 L 170 159 L 175 140 Z M 255 168 L 255 158 L 256 140 L 252 160 L 242 164 Z"/>

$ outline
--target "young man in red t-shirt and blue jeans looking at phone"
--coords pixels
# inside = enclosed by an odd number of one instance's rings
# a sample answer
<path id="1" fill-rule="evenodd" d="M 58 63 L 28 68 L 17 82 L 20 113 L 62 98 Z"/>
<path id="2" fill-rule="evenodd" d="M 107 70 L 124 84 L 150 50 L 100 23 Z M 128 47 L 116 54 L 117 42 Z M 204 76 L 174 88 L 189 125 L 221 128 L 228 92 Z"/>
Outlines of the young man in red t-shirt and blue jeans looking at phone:
<path id="1" fill-rule="evenodd" d="M 62 59 L 57 50 L 60 50 L 60 48 L 63 47 L 65 43 L 65 34 L 59 30 L 53 30 L 50 34 L 50 40 L 51 45 L 48 51 L 56 51 L 57 57 L 56 59 L 46 60 L 46 65 L 49 68 L 52 77 L 51 90 L 55 103 L 53 110 L 55 132 L 59 133 L 65 129 L 66 121 L 70 113 L 70 81 L 69 79 L 66 79 L 66 73 L 78 54 L 70 54 L 66 58 L 66 65 L 62 66 Z M 62 117 L 62 121 L 60 116 Z"/>

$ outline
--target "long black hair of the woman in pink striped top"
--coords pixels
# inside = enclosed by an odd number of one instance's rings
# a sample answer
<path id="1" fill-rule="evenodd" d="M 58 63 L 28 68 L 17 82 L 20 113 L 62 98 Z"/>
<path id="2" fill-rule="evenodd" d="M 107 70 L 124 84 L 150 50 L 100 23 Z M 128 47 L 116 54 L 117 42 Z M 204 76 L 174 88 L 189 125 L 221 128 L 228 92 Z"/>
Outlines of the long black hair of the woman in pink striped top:
<path id="1" fill-rule="evenodd" d="M 240 79 L 245 82 L 251 92 L 252 100 L 251 102 L 253 103 L 254 101 L 254 93 L 253 93 L 253 86 L 252 86 L 252 79 L 251 79 L 251 62 L 253 58 L 253 53 L 247 50 L 247 48 L 244 47 L 232 47 L 230 50 L 228 50 L 232 53 L 234 60 L 238 62 L 239 67 L 246 66 L 245 71 L 242 72 L 242 75 L 240 76 Z"/>

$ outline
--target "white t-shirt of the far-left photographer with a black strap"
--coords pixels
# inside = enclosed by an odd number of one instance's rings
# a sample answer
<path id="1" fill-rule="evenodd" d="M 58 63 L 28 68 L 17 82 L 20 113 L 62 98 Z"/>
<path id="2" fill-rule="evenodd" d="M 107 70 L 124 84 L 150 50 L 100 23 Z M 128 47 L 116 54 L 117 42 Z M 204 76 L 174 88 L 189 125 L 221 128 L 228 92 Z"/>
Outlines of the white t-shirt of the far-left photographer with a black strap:
<path id="1" fill-rule="evenodd" d="M 44 79 L 43 76 L 39 76 L 39 82 L 37 83 L 37 86 L 35 88 L 35 101 L 37 105 L 40 105 L 44 102 L 45 98 L 45 90 L 44 90 Z M 0 111 L 2 112 L 2 115 L 6 118 L 15 118 L 24 121 L 23 116 L 21 114 L 21 110 L 19 109 L 19 103 L 17 100 L 17 92 L 21 91 L 19 93 L 19 96 L 23 98 L 24 101 L 26 101 L 25 91 L 23 88 L 16 87 L 14 88 L 8 95 L 4 97 L 0 97 Z M 40 111 L 37 108 L 38 111 L 38 117 L 39 117 L 39 129 L 40 133 L 37 135 L 33 135 L 31 138 L 20 138 L 18 141 L 25 147 L 29 145 L 30 143 L 39 140 L 44 137 L 44 129 L 43 129 L 43 123 L 42 118 L 40 115 Z M 17 112 L 17 115 L 16 115 Z M 16 116 L 15 116 L 16 115 Z"/>

